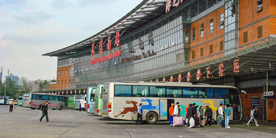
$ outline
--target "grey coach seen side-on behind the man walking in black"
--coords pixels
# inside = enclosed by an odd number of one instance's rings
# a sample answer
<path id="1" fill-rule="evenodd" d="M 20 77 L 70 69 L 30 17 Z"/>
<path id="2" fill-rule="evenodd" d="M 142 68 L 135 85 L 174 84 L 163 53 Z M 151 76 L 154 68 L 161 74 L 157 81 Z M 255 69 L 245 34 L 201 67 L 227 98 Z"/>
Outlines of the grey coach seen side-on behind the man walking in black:
<path id="1" fill-rule="evenodd" d="M 46 93 L 24 93 L 22 100 L 23 107 L 41 109 L 45 101 L 48 101 L 48 109 L 67 109 L 67 96 Z"/>

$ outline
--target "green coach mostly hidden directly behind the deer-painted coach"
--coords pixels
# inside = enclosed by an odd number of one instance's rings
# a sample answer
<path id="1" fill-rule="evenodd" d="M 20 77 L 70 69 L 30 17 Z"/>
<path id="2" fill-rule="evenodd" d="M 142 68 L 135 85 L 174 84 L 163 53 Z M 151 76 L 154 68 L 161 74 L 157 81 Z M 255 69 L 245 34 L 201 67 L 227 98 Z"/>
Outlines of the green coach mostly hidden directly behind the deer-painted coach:
<path id="1" fill-rule="evenodd" d="M 102 116 L 102 87 L 103 84 L 98 85 L 95 91 L 95 109 L 94 114 Z"/>

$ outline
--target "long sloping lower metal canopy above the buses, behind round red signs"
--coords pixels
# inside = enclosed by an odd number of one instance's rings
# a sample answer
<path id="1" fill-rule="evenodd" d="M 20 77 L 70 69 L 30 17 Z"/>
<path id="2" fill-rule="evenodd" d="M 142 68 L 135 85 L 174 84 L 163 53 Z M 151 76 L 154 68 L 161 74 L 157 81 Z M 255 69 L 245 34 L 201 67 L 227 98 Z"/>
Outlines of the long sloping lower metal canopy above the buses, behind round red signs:
<path id="1" fill-rule="evenodd" d="M 234 73 L 234 60 L 239 59 L 239 71 Z M 253 73 L 275 71 L 276 70 L 276 37 L 270 40 L 265 40 L 262 43 L 255 45 L 249 45 L 247 47 L 240 48 L 232 54 L 223 56 L 223 54 L 217 54 L 215 56 L 206 57 L 200 59 L 185 66 L 173 65 L 168 67 L 163 67 L 160 69 L 155 69 L 151 71 L 145 71 L 136 74 L 130 74 L 125 76 L 106 78 L 100 80 L 92 80 L 85 82 L 76 82 L 75 86 L 78 87 L 89 87 L 97 86 L 98 84 L 103 84 L 105 82 L 127 82 L 127 81 L 142 81 L 142 80 L 152 80 L 155 81 L 159 79 L 161 81 L 165 77 L 166 81 L 170 81 L 170 76 L 173 76 L 174 82 L 177 82 L 178 75 L 181 73 L 182 82 L 186 82 L 186 74 L 190 71 L 191 82 L 200 82 L 212 79 L 221 79 L 219 77 L 218 66 L 220 63 L 224 64 L 224 75 L 223 76 L 244 76 Z M 207 79 L 206 68 L 210 67 L 209 79 Z M 201 70 L 201 79 L 196 80 L 196 71 Z M 69 86 L 69 88 L 74 88 L 74 86 Z"/>

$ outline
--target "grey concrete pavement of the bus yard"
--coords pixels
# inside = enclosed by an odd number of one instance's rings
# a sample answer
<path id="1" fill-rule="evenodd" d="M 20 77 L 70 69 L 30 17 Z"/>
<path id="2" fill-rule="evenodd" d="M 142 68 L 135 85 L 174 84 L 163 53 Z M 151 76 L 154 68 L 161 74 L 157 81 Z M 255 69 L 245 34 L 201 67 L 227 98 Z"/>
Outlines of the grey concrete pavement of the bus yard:
<path id="1" fill-rule="evenodd" d="M 9 107 L 0 106 L 0 137 L 275 137 L 275 122 L 259 122 L 260 126 L 243 122 L 230 124 L 231 128 L 212 125 L 211 128 L 169 127 L 168 122 L 155 125 L 135 125 L 134 121 L 110 121 L 85 111 L 75 109 L 48 110 L 40 123 L 41 110 L 16 106 L 12 113 Z M 56 127 L 48 125 L 78 125 L 79 127 Z"/>

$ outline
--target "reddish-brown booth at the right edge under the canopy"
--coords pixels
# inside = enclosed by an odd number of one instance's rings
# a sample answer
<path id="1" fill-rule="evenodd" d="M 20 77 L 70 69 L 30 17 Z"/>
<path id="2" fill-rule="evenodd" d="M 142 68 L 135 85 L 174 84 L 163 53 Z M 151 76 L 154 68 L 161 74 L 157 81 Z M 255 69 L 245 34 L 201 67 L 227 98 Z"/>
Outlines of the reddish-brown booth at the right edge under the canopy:
<path id="1" fill-rule="evenodd" d="M 267 98 L 267 106 L 266 106 L 266 114 L 267 114 L 267 121 L 276 121 L 276 98 Z"/>

